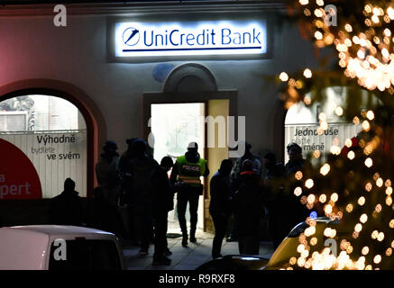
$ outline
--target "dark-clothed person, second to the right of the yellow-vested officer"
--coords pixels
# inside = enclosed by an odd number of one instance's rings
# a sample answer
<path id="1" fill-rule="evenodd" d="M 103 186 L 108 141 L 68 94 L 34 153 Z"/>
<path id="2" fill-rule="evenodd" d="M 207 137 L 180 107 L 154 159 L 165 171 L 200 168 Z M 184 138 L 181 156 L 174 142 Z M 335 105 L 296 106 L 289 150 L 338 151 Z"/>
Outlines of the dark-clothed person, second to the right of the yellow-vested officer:
<path id="1" fill-rule="evenodd" d="M 238 229 L 238 248 L 241 255 L 258 255 L 260 224 L 264 217 L 261 177 L 253 162 L 243 160 L 239 187 L 234 193 L 234 220 Z"/>

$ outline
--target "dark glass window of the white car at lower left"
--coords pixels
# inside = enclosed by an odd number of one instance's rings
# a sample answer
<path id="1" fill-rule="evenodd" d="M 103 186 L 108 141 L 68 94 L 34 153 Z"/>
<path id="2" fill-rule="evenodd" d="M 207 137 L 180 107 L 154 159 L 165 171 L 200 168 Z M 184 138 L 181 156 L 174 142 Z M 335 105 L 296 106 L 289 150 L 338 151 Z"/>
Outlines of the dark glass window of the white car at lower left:
<path id="1" fill-rule="evenodd" d="M 120 259 L 114 241 L 111 240 L 66 240 L 65 247 L 50 247 L 50 270 L 119 270 Z M 58 249 L 63 248 L 63 251 Z M 60 257 L 64 253 L 66 257 Z"/>

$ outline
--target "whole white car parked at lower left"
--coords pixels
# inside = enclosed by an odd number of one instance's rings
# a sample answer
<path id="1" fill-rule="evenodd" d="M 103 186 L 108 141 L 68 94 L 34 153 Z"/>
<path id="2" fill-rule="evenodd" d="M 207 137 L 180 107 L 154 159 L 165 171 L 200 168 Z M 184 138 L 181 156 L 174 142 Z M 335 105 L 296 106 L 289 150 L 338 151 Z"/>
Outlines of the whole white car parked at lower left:
<path id="1" fill-rule="evenodd" d="M 60 225 L 0 228 L 0 270 L 122 270 L 115 235 Z"/>

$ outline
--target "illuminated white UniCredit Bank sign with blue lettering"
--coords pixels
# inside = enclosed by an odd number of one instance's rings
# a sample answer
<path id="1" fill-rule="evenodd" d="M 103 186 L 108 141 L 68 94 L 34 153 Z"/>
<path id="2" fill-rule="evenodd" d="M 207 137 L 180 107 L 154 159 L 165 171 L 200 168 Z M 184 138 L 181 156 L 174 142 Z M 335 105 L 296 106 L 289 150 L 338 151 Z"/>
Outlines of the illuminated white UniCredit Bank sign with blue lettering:
<path id="1" fill-rule="evenodd" d="M 267 52 L 265 22 L 115 23 L 115 57 Z"/>

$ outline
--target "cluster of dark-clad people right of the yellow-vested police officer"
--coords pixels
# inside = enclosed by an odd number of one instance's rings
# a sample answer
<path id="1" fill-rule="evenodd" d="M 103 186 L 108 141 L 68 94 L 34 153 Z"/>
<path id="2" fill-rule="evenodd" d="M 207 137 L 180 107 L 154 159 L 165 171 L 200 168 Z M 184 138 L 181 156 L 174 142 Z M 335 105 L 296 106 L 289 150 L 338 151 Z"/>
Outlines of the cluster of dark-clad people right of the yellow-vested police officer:
<path id="1" fill-rule="evenodd" d="M 227 241 L 237 240 L 242 255 L 258 255 L 262 220 L 266 220 L 274 248 L 278 247 L 298 222 L 307 218 L 307 209 L 292 193 L 296 183 L 292 181 L 298 171 L 308 165 L 297 143 L 287 147 L 289 162 L 278 163 L 273 153 L 262 159 L 251 152 L 246 143 L 245 153 L 234 165 L 224 159 L 210 181 L 209 212 L 215 225 L 212 257 L 221 257 L 221 247 L 226 234 Z"/>

